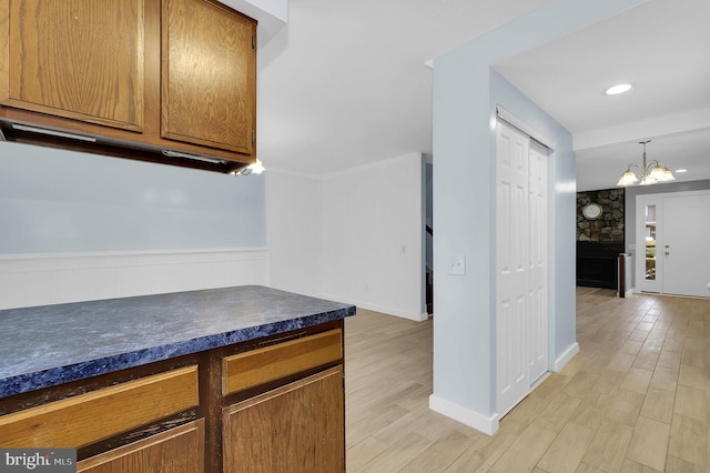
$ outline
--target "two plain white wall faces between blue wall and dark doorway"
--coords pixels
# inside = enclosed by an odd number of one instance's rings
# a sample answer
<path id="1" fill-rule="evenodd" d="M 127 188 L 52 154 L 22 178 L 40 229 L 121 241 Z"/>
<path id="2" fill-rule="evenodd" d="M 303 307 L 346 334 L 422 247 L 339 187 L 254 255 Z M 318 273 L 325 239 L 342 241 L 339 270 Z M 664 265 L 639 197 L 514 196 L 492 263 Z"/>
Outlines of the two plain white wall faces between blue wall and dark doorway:
<path id="1" fill-rule="evenodd" d="M 426 319 L 424 164 L 410 153 L 325 178 L 268 170 L 272 285 Z"/>

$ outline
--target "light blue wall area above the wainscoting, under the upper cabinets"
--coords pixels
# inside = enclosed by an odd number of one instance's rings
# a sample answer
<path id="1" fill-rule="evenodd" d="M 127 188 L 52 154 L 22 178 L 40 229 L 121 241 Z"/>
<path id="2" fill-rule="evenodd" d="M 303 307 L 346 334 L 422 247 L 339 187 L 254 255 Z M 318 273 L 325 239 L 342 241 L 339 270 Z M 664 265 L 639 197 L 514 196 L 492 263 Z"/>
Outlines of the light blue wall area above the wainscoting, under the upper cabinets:
<path id="1" fill-rule="evenodd" d="M 264 175 L 0 142 L 0 253 L 266 245 Z"/>

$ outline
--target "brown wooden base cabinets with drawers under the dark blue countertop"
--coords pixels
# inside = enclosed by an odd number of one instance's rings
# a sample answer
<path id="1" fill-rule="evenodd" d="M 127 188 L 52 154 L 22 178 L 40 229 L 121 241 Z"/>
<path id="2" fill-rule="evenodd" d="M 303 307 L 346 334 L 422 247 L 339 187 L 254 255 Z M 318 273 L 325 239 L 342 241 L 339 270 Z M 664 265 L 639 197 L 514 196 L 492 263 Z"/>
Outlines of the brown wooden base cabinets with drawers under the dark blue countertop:
<path id="1" fill-rule="evenodd" d="M 343 322 L 0 399 L 0 447 L 79 472 L 342 472 Z"/>

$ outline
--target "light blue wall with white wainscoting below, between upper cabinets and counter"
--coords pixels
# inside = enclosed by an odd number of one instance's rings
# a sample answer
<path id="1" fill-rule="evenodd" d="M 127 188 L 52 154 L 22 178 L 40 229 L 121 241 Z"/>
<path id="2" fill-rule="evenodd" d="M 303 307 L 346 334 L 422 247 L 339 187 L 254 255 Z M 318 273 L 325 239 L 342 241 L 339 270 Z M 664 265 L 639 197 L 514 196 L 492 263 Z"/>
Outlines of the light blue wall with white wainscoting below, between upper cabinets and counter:
<path id="1" fill-rule="evenodd" d="M 267 284 L 264 187 L 0 142 L 0 309 Z"/>

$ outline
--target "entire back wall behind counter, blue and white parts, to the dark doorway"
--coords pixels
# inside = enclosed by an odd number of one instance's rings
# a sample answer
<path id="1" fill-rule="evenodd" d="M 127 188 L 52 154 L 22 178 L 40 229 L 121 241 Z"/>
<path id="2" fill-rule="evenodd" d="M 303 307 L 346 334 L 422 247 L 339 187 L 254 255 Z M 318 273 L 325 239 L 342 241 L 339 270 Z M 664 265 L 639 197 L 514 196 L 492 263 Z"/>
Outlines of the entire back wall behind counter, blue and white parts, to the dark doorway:
<path id="1" fill-rule="evenodd" d="M 426 316 L 420 153 L 325 179 L 0 158 L 0 309 L 264 284 Z"/>

